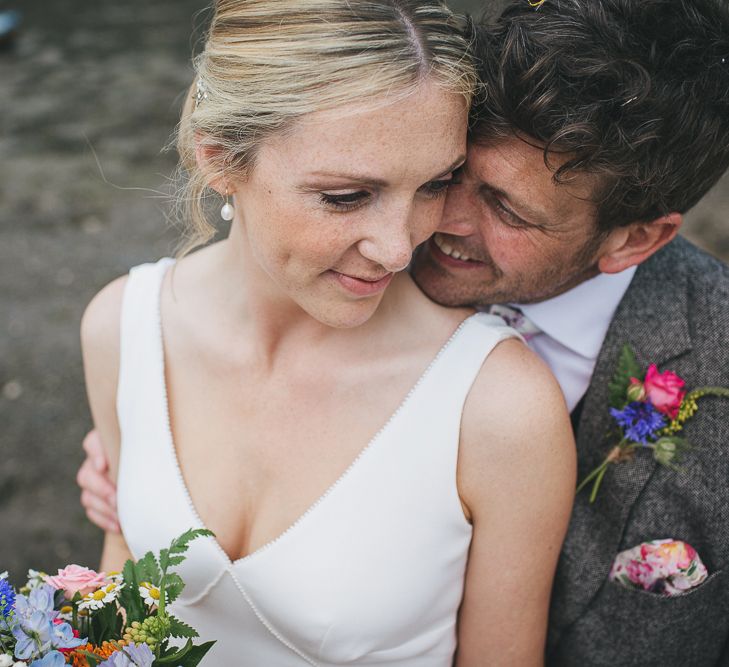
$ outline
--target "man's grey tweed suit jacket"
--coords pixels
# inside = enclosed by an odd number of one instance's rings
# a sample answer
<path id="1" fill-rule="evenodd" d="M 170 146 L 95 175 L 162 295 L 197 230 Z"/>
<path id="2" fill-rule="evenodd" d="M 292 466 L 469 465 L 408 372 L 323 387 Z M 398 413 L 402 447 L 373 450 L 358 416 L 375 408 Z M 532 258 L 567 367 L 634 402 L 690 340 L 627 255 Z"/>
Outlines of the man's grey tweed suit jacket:
<path id="1" fill-rule="evenodd" d="M 611 443 L 608 381 L 625 343 L 642 367 L 673 370 L 689 388 L 729 387 L 729 267 L 676 239 L 638 268 L 611 323 L 577 428 L 579 478 Z M 706 397 L 684 429 L 683 469 L 649 451 L 612 466 L 596 502 L 575 500 L 552 594 L 550 667 L 729 665 L 729 400 Z M 664 598 L 608 581 L 615 556 L 642 542 L 691 544 L 709 571 Z"/>

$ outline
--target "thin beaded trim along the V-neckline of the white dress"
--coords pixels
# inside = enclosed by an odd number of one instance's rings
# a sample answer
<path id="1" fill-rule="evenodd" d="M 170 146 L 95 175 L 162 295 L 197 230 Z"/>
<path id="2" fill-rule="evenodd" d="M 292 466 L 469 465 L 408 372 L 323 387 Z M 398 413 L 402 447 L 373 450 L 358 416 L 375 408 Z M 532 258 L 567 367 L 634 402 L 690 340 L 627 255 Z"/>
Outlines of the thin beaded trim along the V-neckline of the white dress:
<path id="1" fill-rule="evenodd" d="M 164 415 L 164 421 L 165 421 L 165 431 L 167 436 L 167 446 L 169 449 L 170 457 L 172 459 L 173 466 L 175 468 L 175 471 L 177 473 L 177 478 L 180 484 L 180 488 L 183 492 L 183 495 L 185 496 L 187 500 L 187 506 L 188 509 L 192 515 L 194 523 L 197 524 L 198 528 L 205 528 L 207 529 L 207 526 L 205 525 L 205 522 L 202 520 L 202 517 L 200 516 L 197 507 L 195 505 L 195 502 L 192 498 L 192 495 L 190 493 L 190 490 L 187 487 L 187 483 L 185 482 L 185 477 L 182 473 L 182 466 L 180 465 L 180 460 L 177 456 L 177 447 L 175 446 L 175 439 L 172 434 L 172 420 L 170 418 L 170 403 L 169 403 L 169 395 L 167 392 L 167 362 L 165 359 L 165 345 L 164 345 L 164 330 L 162 327 L 162 290 L 164 287 L 164 281 L 165 277 L 167 275 L 167 270 L 171 265 L 174 264 L 174 261 L 168 263 L 164 267 L 164 271 L 162 272 L 162 276 L 159 282 L 159 294 L 157 296 L 156 304 L 157 304 L 157 343 L 159 346 L 159 355 L 160 355 L 160 388 L 162 391 L 162 411 Z M 280 542 L 282 539 L 284 539 L 289 533 L 291 533 L 296 527 L 298 527 L 301 523 L 305 521 L 305 519 L 310 516 L 316 508 L 328 498 L 332 492 L 340 486 L 340 484 L 350 475 L 352 470 L 357 467 L 357 464 L 359 461 L 369 452 L 372 450 L 372 448 L 376 445 L 376 443 L 380 440 L 383 433 L 387 430 L 387 428 L 390 426 L 390 424 L 395 420 L 395 418 L 400 414 L 400 412 L 405 408 L 405 406 L 410 402 L 412 396 L 416 393 L 418 388 L 423 384 L 425 379 L 430 374 L 432 368 L 435 366 L 435 364 L 438 362 L 438 360 L 443 356 L 443 353 L 450 347 L 450 345 L 453 343 L 453 341 L 458 337 L 460 332 L 464 329 L 466 324 L 470 322 L 474 317 L 478 317 L 479 313 L 474 313 L 472 315 L 469 315 L 468 317 L 461 320 L 461 322 L 458 324 L 456 329 L 453 331 L 453 333 L 448 337 L 448 339 L 443 343 L 443 345 L 440 347 L 438 352 L 435 354 L 435 356 L 431 359 L 430 363 L 426 367 L 426 369 L 420 374 L 420 377 L 416 380 L 415 384 L 412 385 L 410 390 L 407 392 L 405 397 L 400 401 L 397 408 L 394 412 L 390 415 L 390 417 L 385 421 L 385 423 L 380 427 L 380 429 L 370 438 L 370 440 L 367 442 L 367 444 L 362 448 L 357 456 L 354 458 L 354 460 L 347 466 L 347 468 L 337 477 L 337 479 L 334 480 L 325 490 L 323 493 L 321 493 L 317 499 L 307 507 L 306 510 L 302 514 L 300 514 L 296 519 L 294 519 L 289 526 L 284 529 L 281 533 L 279 533 L 276 537 L 268 540 L 267 542 L 264 542 L 262 545 L 256 547 L 249 553 L 247 553 L 245 556 L 241 556 L 240 558 L 233 559 L 230 557 L 227 551 L 223 549 L 222 545 L 218 541 L 217 537 L 213 535 L 209 539 L 211 542 L 215 545 L 216 549 L 220 552 L 220 554 L 225 559 L 225 562 L 227 563 L 228 567 L 236 567 L 238 565 L 243 565 L 244 563 L 247 563 L 248 561 L 252 560 L 255 556 L 258 556 L 259 554 L 265 552 L 267 549 L 271 548 L 278 542 Z"/>

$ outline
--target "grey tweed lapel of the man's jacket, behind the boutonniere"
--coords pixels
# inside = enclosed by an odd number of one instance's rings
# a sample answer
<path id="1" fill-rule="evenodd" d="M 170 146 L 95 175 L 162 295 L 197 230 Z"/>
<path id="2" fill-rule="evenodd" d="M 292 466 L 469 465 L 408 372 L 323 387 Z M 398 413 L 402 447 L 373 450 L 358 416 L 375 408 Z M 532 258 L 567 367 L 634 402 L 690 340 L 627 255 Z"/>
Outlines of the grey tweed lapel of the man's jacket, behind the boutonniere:
<path id="1" fill-rule="evenodd" d="M 600 464 L 613 444 L 608 382 L 626 343 L 642 368 L 660 366 L 691 349 L 686 277 L 681 273 L 683 241 L 677 240 L 639 267 L 611 322 L 595 366 L 577 430 L 578 479 Z M 618 553 L 630 511 L 655 471 L 649 451 L 613 465 L 600 493 L 589 503 L 580 492 L 562 549 L 552 598 L 550 645 L 583 613 L 606 581 Z"/>

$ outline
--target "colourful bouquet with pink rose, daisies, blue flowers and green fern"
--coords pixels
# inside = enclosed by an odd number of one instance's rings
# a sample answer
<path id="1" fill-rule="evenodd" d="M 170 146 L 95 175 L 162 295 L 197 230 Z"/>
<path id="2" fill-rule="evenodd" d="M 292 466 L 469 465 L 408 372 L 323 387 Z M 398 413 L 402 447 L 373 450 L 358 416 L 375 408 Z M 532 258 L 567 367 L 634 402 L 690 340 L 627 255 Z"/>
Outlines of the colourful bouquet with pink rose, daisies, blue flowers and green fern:
<path id="1" fill-rule="evenodd" d="M 168 609 L 184 588 L 172 569 L 189 543 L 207 530 L 189 530 L 159 555 L 151 552 L 122 572 L 69 565 L 55 576 L 30 570 L 16 591 L 0 575 L 0 667 L 194 667 L 214 642 L 194 644 L 197 632 Z M 172 645 L 171 639 L 185 642 Z"/>

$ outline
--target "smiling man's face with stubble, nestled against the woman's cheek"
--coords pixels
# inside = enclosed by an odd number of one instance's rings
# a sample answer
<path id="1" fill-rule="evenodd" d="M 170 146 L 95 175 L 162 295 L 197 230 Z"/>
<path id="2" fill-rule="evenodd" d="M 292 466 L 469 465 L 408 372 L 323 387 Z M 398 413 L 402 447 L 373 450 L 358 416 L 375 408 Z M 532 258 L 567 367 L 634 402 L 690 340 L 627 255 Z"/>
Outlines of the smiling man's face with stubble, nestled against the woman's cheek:
<path id="1" fill-rule="evenodd" d="M 530 303 L 595 276 L 605 237 L 594 184 L 552 176 L 542 150 L 517 138 L 470 146 L 439 232 L 413 259 L 420 288 L 448 306 Z"/>

